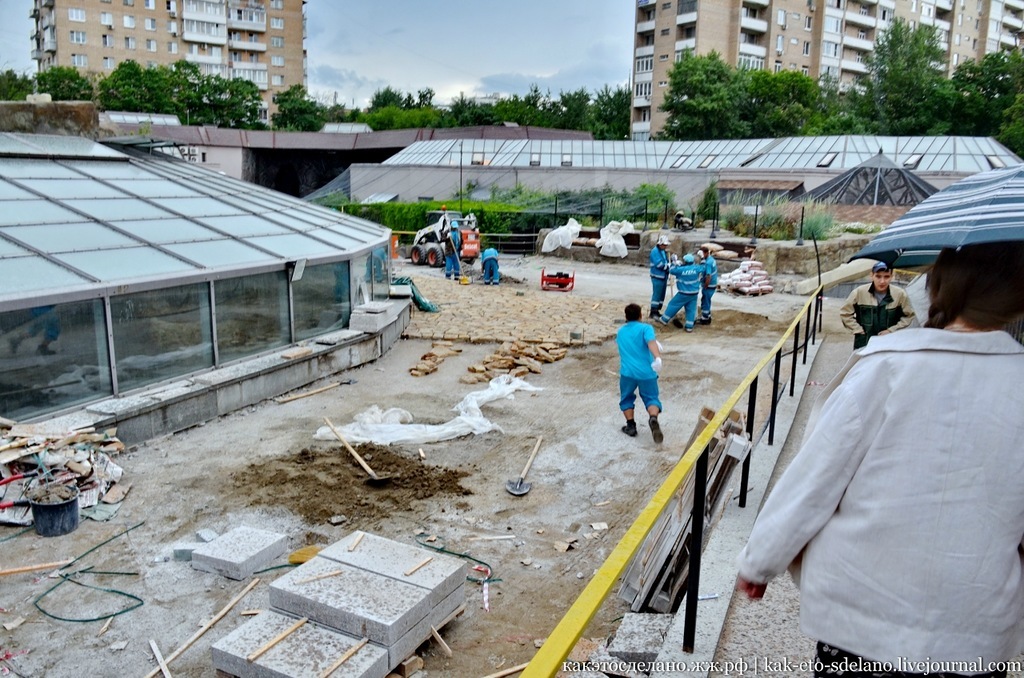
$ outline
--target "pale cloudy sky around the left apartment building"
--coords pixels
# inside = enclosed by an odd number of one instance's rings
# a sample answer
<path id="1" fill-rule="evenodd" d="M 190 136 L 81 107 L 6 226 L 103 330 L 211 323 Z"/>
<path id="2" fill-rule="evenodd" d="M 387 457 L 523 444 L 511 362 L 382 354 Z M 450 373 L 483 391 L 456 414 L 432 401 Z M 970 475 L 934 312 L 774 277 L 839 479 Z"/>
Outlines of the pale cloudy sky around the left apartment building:
<path id="1" fill-rule="evenodd" d="M 0 0 L 0 70 L 35 73 L 32 0 Z M 388 85 L 434 101 L 626 85 L 633 0 L 309 0 L 309 82 L 319 99 L 366 107 Z"/>

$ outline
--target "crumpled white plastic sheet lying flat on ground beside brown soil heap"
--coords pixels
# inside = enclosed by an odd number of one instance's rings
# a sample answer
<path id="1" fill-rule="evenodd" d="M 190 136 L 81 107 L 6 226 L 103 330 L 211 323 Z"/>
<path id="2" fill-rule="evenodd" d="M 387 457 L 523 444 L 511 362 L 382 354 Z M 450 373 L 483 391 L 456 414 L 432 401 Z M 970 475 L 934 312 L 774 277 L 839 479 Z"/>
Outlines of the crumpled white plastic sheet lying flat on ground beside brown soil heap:
<path id="1" fill-rule="evenodd" d="M 376 442 L 377 444 L 416 444 L 451 440 L 464 435 L 478 435 L 487 431 L 502 431 L 480 411 L 487 402 L 513 399 L 516 391 L 541 391 L 518 377 L 495 377 L 482 391 L 468 393 L 452 408 L 459 415 L 443 424 L 416 424 L 413 415 L 400 408 L 382 410 L 373 406 L 355 416 L 355 421 L 337 427 L 349 442 Z M 313 437 L 317 440 L 337 440 L 329 426 L 321 426 Z"/>

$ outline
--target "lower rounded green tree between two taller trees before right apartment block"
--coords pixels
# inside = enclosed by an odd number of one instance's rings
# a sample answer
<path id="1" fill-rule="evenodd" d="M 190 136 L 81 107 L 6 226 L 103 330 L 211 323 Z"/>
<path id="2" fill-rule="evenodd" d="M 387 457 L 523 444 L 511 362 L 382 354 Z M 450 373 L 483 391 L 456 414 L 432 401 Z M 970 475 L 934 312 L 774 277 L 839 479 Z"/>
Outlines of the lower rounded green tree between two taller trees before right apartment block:
<path id="1" fill-rule="evenodd" d="M 796 71 L 752 71 L 742 117 L 754 138 L 796 136 L 814 115 L 818 85 Z"/>

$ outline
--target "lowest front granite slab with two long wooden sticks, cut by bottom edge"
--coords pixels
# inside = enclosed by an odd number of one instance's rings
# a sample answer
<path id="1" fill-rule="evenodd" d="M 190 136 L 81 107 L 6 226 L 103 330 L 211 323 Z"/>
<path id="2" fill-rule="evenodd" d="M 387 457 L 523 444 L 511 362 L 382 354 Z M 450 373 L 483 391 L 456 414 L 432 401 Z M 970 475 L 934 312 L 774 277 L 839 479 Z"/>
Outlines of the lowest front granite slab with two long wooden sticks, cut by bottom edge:
<path id="1" fill-rule="evenodd" d="M 211 647 L 213 666 L 240 678 L 316 678 L 361 638 L 306 622 L 254 662 L 248 656 L 262 648 L 296 620 L 264 611 Z M 368 643 L 332 674 L 332 678 L 382 678 L 388 672 L 388 652 Z"/>

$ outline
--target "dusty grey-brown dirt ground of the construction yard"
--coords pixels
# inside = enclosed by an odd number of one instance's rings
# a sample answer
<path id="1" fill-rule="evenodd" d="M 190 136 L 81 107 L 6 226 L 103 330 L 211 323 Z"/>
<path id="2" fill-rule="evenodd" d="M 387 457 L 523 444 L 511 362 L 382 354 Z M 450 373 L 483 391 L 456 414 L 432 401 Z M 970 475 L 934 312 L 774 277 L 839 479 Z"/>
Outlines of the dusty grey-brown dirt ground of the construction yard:
<path id="1" fill-rule="evenodd" d="M 445 284 L 424 268 L 397 272 L 412 274 L 453 322 L 459 313 L 494 314 L 503 298 L 513 297 L 534 300 L 532 312 L 543 315 L 550 295 L 559 293 L 538 289 L 540 270 L 559 262 L 528 257 L 502 265 L 520 284 L 498 290 Z M 614 309 L 608 336 L 626 302 L 649 297 L 642 268 L 574 268 L 575 291 L 566 296 L 591 307 L 591 301 L 612 301 L 604 304 Z M 482 676 L 528 661 L 536 641 L 565 613 L 678 461 L 700 408 L 717 410 L 728 398 L 805 300 L 720 292 L 715 301 L 712 326 L 693 334 L 658 330 L 666 354 L 662 446 L 651 440 L 643 416 L 638 437 L 620 432 L 614 342 L 593 342 L 570 347 L 564 359 L 529 375 L 528 383 L 542 390 L 484 406 L 499 430 L 446 442 L 355 446 L 379 474 L 393 476 L 371 484 L 340 443 L 312 437 L 324 417 L 344 425 L 377 405 L 402 408 L 417 423 L 445 422 L 459 400 L 483 388 L 459 378 L 495 348 L 460 343 L 461 352 L 437 372 L 414 377 L 409 369 L 431 341 L 406 339 L 376 363 L 337 376 L 354 383 L 287 404 L 264 401 L 129 450 L 116 459 L 131 491 L 114 518 L 83 520 L 54 539 L 0 527 L 0 568 L 81 558 L 69 568 L 79 574 L 68 581 L 38 574 L 0 580 L 0 624 L 24 620 L 0 628 L 0 672 L 78 678 L 154 670 L 151 639 L 170 654 L 245 586 L 174 560 L 174 545 L 195 542 L 200 529 L 239 525 L 288 535 L 290 550 L 327 545 L 353 529 L 409 544 L 436 536 L 433 545 L 485 561 L 498 581 L 488 586 L 488 609 L 482 587 L 467 585 L 465 613 L 442 631 L 454 656 L 424 644 L 424 675 Z M 414 312 L 414 326 L 421 315 Z M 416 327 L 411 330 L 415 335 Z M 519 475 L 538 436 L 543 442 L 527 478 L 532 489 L 514 497 L 506 480 Z M 602 522 L 606 531 L 592 526 Z M 577 540 L 571 550 L 555 547 L 570 539 Z M 172 674 L 214 676 L 210 645 L 245 623 L 242 610 L 267 607 L 267 584 L 283 571 L 258 574 L 260 584 L 171 664 Z M 93 621 L 118 610 L 105 630 Z M 608 635 L 625 610 L 609 598 L 585 636 Z"/>

